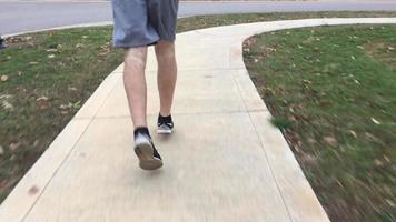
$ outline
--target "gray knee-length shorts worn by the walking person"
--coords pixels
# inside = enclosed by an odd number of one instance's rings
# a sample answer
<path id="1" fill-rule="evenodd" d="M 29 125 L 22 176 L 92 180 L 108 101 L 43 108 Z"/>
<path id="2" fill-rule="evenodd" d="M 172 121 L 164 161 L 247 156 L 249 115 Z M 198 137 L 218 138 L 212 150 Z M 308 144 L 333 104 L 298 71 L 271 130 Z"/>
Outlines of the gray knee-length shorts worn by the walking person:
<path id="1" fill-rule="evenodd" d="M 117 48 L 175 41 L 179 0 L 111 0 Z"/>

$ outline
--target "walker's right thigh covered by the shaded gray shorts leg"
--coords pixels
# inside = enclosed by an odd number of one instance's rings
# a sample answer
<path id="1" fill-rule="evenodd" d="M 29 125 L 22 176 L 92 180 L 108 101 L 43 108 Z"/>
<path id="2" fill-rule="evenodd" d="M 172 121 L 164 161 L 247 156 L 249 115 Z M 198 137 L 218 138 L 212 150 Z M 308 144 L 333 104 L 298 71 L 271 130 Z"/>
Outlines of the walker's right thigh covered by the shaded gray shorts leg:
<path id="1" fill-rule="evenodd" d="M 147 0 L 148 22 L 161 40 L 174 41 L 176 37 L 179 0 Z"/>

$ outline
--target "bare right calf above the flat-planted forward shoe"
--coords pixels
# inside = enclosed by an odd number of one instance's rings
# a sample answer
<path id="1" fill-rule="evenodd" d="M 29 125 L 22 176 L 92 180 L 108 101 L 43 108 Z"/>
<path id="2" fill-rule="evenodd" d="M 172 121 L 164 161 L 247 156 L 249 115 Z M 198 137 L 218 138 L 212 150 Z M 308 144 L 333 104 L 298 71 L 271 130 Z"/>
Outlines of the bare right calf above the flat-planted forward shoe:
<path id="1" fill-rule="evenodd" d="M 160 114 L 168 117 L 171 113 L 177 80 L 175 43 L 161 40 L 157 43 L 155 49 L 158 61 L 157 84 L 160 98 Z"/>

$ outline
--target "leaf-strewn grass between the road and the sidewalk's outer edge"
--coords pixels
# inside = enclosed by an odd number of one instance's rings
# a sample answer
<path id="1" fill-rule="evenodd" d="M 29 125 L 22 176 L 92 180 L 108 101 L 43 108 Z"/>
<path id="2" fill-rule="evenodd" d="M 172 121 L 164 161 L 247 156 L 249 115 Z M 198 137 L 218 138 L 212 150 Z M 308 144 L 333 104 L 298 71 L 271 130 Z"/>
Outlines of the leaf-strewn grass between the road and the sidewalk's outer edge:
<path id="1" fill-rule="evenodd" d="M 395 17 L 396 12 L 227 14 L 179 19 L 178 32 L 256 21 L 323 17 Z M 0 202 L 122 62 L 112 27 L 46 31 L 7 39 L 0 51 Z M 278 120 L 279 121 L 279 120 Z M 288 127 L 287 121 L 278 122 Z"/>

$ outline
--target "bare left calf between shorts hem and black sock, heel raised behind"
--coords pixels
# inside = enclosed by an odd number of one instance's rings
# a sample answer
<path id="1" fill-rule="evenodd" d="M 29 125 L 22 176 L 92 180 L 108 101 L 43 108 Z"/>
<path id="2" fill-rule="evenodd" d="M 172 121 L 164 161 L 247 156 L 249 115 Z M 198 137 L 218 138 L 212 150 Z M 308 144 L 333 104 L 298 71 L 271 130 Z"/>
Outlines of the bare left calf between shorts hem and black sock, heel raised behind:
<path id="1" fill-rule="evenodd" d="M 147 127 L 146 87 L 147 47 L 129 48 L 125 51 L 123 84 L 133 127 Z"/>

